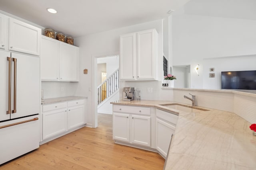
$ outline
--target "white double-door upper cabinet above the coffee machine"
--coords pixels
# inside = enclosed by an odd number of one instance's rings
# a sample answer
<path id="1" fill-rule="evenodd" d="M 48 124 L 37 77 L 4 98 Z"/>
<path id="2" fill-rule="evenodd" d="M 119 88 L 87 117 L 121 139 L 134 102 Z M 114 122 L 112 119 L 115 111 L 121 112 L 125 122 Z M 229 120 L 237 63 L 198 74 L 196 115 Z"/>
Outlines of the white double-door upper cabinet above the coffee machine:
<path id="1" fill-rule="evenodd" d="M 158 79 L 156 29 L 120 36 L 120 80 Z"/>

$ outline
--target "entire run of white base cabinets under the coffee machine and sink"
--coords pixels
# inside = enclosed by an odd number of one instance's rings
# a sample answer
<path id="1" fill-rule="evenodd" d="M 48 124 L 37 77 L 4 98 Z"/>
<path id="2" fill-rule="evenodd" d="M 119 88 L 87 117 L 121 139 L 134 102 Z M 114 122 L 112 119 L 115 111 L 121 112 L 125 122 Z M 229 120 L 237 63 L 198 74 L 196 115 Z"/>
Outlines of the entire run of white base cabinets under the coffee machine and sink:
<path id="1" fill-rule="evenodd" d="M 166 158 L 177 121 L 178 115 L 160 109 L 114 104 L 113 139 Z"/>

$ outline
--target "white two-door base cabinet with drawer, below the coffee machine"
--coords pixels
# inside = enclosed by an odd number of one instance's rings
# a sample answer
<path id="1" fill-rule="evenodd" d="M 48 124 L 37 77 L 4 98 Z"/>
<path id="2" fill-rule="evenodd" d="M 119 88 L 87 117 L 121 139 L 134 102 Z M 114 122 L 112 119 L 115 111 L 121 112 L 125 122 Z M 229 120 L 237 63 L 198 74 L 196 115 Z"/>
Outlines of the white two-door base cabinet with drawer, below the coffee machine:
<path id="1" fill-rule="evenodd" d="M 150 147 L 150 108 L 113 105 L 113 139 Z"/>

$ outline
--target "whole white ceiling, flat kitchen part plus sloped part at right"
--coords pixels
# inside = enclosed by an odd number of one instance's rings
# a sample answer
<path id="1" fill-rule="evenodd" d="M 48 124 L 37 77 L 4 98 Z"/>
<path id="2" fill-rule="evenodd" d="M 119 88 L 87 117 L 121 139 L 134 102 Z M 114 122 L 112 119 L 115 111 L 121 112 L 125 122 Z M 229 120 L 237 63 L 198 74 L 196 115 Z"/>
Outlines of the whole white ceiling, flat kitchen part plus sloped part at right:
<path id="1" fill-rule="evenodd" d="M 0 10 L 72 37 L 158 20 L 169 10 L 256 20 L 256 0 L 0 0 Z"/>

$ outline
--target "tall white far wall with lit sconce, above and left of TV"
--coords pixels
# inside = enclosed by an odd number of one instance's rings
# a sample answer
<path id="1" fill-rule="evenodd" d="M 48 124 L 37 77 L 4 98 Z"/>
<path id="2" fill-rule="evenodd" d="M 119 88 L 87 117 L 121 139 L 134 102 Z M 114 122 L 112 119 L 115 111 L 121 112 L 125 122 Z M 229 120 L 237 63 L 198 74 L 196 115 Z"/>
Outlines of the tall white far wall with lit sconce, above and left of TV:
<path id="1" fill-rule="evenodd" d="M 220 87 L 218 77 L 206 76 L 209 67 L 218 68 L 216 74 L 224 68 L 244 70 L 250 66 L 256 70 L 256 65 L 250 63 L 255 63 L 255 56 L 231 57 L 256 54 L 255 20 L 179 14 L 172 16 L 172 30 L 173 65 L 191 65 L 191 88 Z M 220 61 L 219 57 L 227 58 L 224 62 L 213 62 Z M 234 60 L 243 64 L 232 65 Z M 199 76 L 194 71 L 196 64 L 200 64 Z M 207 83 L 208 80 L 211 82 Z"/>

